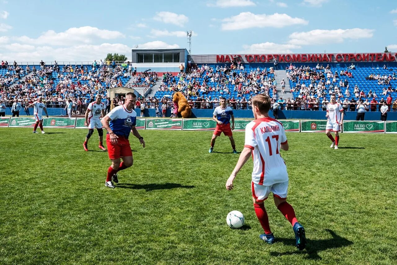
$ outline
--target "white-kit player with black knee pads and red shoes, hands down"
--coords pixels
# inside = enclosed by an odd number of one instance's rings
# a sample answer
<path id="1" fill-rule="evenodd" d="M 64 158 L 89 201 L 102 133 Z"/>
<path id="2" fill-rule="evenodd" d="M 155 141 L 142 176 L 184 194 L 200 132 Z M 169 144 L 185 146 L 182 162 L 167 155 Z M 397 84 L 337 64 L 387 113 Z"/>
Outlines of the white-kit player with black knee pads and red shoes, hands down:
<path id="1" fill-rule="evenodd" d="M 94 128 L 98 131 L 99 135 L 99 145 L 98 148 L 106 151 L 106 148 L 103 146 L 103 129 L 102 123 L 100 122 L 100 115 L 105 117 L 105 104 L 101 102 L 102 96 L 100 94 L 96 95 L 95 101 L 88 104 L 87 111 L 85 111 L 85 126 L 88 126 L 88 134 L 85 136 L 85 141 L 83 144 L 83 148 L 85 151 L 88 151 L 88 140 L 94 133 Z"/>

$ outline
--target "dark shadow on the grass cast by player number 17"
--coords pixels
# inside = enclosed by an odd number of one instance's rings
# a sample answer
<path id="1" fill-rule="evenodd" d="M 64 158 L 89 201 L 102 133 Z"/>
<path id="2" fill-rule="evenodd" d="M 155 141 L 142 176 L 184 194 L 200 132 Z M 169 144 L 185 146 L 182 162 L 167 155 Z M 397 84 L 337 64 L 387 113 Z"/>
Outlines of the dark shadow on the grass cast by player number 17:
<path id="1" fill-rule="evenodd" d="M 282 256 L 282 255 L 306 255 L 308 254 L 307 259 L 321 259 L 318 255 L 318 252 L 323 250 L 328 250 L 332 248 L 342 248 L 346 246 L 350 246 L 353 244 L 352 241 L 347 240 L 341 236 L 338 236 L 330 229 L 326 229 L 330 232 L 332 238 L 330 239 L 317 239 L 310 240 L 310 238 L 306 238 L 306 250 L 303 251 L 293 251 L 293 252 L 270 252 L 272 256 Z M 307 234 L 306 234 L 307 235 Z M 276 238 L 276 242 L 282 242 L 284 245 L 295 246 L 295 238 Z"/>

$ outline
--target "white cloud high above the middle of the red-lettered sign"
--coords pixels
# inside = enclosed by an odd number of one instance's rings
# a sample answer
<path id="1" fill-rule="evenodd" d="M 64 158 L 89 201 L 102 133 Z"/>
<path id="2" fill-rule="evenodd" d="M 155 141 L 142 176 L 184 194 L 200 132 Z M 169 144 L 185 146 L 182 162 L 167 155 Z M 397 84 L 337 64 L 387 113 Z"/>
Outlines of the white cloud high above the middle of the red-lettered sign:
<path id="1" fill-rule="evenodd" d="M 276 27 L 281 28 L 290 25 L 307 25 L 308 21 L 298 18 L 290 17 L 287 14 L 274 13 L 273 15 L 259 14 L 255 15 L 251 12 L 242 12 L 233 17 L 223 19 L 222 30 L 237 30 L 249 28 L 263 28 L 263 27 Z"/>

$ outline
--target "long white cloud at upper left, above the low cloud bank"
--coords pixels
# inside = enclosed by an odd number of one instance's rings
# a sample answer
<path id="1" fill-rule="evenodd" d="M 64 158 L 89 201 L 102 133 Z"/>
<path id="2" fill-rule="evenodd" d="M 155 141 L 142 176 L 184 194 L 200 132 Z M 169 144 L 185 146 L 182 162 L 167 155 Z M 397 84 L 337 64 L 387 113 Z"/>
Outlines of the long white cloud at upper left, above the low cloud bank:
<path id="1" fill-rule="evenodd" d="M 109 31 L 106 29 L 98 29 L 96 27 L 79 27 L 70 28 L 64 32 L 56 33 L 53 30 L 44 32 L 38 38 L 29 38 L 28 36 L 18 37 L 17 40 L 29 44 L 36 45 L 75 45 L 90 44 L 95 40 L 110 40 L 115 38 L 124 38 L 125 36 L 119 31 Z"/>

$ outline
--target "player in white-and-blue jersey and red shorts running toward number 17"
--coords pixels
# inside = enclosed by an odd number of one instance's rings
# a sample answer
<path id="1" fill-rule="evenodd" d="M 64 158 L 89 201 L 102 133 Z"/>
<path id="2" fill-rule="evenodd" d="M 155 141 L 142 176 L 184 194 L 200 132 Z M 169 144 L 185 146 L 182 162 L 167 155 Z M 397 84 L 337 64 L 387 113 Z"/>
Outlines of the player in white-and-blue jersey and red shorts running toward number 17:
<path id="1" fill-rule="evenodd" d="M 133 163 L 131 146 L 129 144 L 129 133 L 139 139 L 143 147 L 145 141 L 135 128 L 137 124 L 137 113 L 133 109 L 137 102 L 137 96 L 134 93 L 125 94 L 125 103 L 112 109 L 102 120 L 102 125 L 108 131 L 106 134 L 106 145 L 112 165 L 108 169 L 105 186 L 115 188 L 113 182 L 118 183 L 117 172 Z M 120 163 L 120 158 L 123 161 Z"/>

